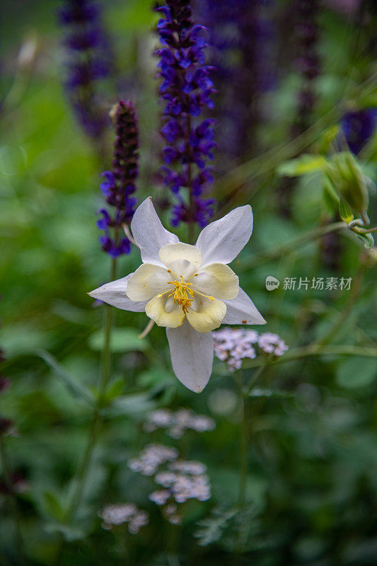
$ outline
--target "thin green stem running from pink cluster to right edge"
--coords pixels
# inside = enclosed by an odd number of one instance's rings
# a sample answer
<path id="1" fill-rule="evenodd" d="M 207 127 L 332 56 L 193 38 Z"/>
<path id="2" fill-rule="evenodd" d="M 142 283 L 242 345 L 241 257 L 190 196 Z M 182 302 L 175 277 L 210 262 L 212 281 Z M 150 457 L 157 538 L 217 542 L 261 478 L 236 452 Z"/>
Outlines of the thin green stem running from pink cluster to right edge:
<path id="1" fill-rule="evenodd" d="M 275 364 L 282 364 L 284 362 L 292 362 L 295 359 L 301 359 L 308 356 L 365 356 L 377 357 L 377 348 L 361 347 L 361 346 L 320 346 L 318 344 L 311 344 L 301 348 L 294 348 L 283 356 L 271 359 L 265 362 L 264 359 L 245 359 L 243 362 L 244 368 L 260 367 L 262 365 L 272 366 Z"/>

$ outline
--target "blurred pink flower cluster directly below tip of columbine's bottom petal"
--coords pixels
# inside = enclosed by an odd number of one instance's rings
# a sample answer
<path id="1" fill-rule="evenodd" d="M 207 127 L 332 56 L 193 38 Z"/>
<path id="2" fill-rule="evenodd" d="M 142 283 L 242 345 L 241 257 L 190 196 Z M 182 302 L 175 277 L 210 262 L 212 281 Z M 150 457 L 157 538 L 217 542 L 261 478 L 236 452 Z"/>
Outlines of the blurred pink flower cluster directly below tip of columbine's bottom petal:
<path id="1" fill-rule="evenodd" d="M 149 413 L 147 422 L 144 425 L 146 432 L 153 432 L 156 429 L 167 429 L 172 438 L 181 438 L 187 429 L 195 432 L 207 432 L 213 430 L 216 423 L 206 415 L 196 415 L 188 409 L 171 411 L 168 409 L 157 409 Z"/>

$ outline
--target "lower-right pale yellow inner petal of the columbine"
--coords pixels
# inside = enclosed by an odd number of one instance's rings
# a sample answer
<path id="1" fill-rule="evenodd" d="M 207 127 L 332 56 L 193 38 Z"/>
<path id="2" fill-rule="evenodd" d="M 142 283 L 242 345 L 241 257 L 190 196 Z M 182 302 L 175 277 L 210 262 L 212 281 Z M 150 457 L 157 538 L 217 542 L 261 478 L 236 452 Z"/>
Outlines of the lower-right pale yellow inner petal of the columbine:
<path id="1" fill-rule="evenodd" d="M 195 301 L 187 312 L 187 320 L 198 332 L 219 328 L 226 315 L 226 304 L 219 299 L 207 299 L 194 291 Z"/>

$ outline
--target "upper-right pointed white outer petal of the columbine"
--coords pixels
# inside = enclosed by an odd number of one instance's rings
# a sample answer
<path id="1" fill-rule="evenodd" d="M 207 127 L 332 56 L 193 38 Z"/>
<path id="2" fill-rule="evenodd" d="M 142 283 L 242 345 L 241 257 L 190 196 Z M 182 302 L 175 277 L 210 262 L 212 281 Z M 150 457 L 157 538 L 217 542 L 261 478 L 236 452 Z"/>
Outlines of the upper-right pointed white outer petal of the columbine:
<path id="1" fill-rule="evenodd" d="M 238 207 L 206 226 L 195 246 L 202 252 L 202 267 L 230 263 L 248 243 L 253 232 L 253 212 L 249 204 Z"/>

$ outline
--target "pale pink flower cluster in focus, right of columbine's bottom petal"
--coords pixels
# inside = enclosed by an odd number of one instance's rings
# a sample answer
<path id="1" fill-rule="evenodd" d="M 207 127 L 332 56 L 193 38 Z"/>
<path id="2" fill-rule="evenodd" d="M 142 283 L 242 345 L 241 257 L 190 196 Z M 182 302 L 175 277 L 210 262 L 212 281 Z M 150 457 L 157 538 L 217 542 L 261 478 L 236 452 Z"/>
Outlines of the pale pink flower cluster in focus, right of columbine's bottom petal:
<path id="1" fill-rule="evenodd" d="M 289 348 L 279 335 L 270 332 L 259 334 L 256 330 L 225 327 L 212 335 L 216 357 L 226 362 L 231 372 L 242 367 L 243 359 L 255 358 L 257 347 L 258 353 L 274 356 L 282 356 Z"/>

